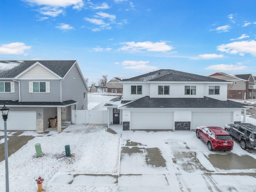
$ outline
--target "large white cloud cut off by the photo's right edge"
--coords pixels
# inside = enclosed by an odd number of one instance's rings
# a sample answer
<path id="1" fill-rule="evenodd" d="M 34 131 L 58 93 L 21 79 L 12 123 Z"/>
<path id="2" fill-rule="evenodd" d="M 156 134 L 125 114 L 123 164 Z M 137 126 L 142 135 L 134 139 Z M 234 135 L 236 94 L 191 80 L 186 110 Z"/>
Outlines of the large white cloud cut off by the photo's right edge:
<path id="1" fill-rule="evenodd" d="M 218 46 L 217 50 L 229 54 L 239 54 L 243 56 L 246 53 L 256 56 L 256 41 L 237 41 Z"/>

